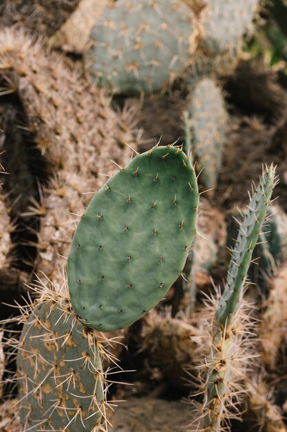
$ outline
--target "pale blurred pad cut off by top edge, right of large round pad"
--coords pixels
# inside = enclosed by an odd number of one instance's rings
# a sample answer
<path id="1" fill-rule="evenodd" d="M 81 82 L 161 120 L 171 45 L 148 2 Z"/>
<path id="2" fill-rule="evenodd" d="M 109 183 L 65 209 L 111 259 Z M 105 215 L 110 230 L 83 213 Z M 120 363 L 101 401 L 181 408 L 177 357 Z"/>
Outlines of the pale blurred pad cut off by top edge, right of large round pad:
<path id="1" fill-rule="evenodd" d="M 258 0 L 210 0 L 202 48 L 210 55 L 234 50 L 251 27 Z"/>

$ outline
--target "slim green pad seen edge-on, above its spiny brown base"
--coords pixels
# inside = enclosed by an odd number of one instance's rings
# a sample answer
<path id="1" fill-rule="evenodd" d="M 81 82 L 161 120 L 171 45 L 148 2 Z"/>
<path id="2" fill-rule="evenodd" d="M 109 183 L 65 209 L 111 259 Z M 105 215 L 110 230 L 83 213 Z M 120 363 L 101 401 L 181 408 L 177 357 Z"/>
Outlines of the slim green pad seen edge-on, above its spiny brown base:
<path id="1" fill-rule="evenodd" d="M 262 177 L 260 177 L 259 186 L 248 205 L 232 251 L 226 286 L 216 311 L 217 321 L 222 326 L 230 324 L 242 300 L 244 283 L 251 264 L 253 249 L 257 243 L 262 224 L 266 219 L 266 211 L 275 184 L 275 168 L 271 165 L 270 168 L 266 168 Z"/>

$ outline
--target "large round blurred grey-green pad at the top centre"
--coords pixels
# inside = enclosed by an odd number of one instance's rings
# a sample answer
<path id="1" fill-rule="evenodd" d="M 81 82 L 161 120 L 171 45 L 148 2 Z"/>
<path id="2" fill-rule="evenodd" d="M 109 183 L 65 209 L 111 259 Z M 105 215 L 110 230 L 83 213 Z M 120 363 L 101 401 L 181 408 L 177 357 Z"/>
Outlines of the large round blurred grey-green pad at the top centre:
<path id="1" fill-rule="evenodd" d="M 196 48 L 193 12 L 178 0 L 118 0 L 90 35 L 91 74 L 114 92 L 158 91 Z"/>

